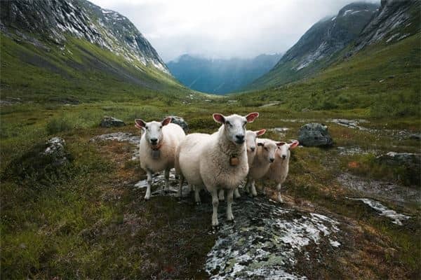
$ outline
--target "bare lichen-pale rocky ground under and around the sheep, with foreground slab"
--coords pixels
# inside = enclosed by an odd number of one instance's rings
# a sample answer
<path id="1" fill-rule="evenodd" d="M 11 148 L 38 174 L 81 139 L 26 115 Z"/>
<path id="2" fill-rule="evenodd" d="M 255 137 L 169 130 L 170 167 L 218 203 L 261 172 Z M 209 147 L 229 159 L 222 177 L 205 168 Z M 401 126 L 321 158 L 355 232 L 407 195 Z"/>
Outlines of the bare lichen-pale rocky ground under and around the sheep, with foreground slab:
<path id="1" fill-rule="evenodd" d="M 361 130 L 358 124 L 364 123 L 361 120 L 332 121 L 353 130 Z M 272 129 L 274 134 L 282 136 L 287 131 L 288 127 Z M 126 143 L 130 147 L 131 160 L 139 160 L 135 145 L 139 136 L 136 134 L 114 132 L 91 139 L 93 143 L 98 141 Z M 333 148 L 333 151 L 342 158 L 365 153 L 359 147 L 338 147 Z M 204 203 L 194 206 L 187 186 L 183 189 L 184 197 L 175 197 L 178 187 L 173 172 L 170 180 L 170 191 L 163 193 L 163 174 L 155 174 L 152 200 L 145 203 L 159 203 L 158 197 L 173 197 L 173 200 L 178 200 L 178 204 L 195 208 L 196 218 L 208 219 L 210 225 L 211 206 L 208 194 L 202 191 Z M 420 202 L 419 188 L 408 188 L 381 180 L 367 181 L 346 172 L 341 173 L 337 181 L 340 188 L 350 195 L 344 195 L 344 200 L 366 207 L 364 211 L 368 211 L 370 215 L 383 216 L 387 218 L 386 223 L 393 223 L 397 227 L 406 227 L 408 220 L 413 217 L 389 209 L 368 197 L 377 197 L 396 205 Z M 143 193 L 146 188 L 145 177 L 129 183 L 129 188 Z M 203 233 L 213 237 L 214 243 L 208 251 L 203 251 L 204 260 L 199 269 L 203 273 L 201 275 L 207 274 L 210 279 L 320 279 L 338 276 L 354 278 L 353 273 L 359 273 L 363 278 L 377 278 L 374 274 L 364 274 L 368 272 L 362 267 L 369 267 L 372 261 L 381 262 L 382 257 L 377 254 L 394 254 L 396 251 L 373 232 L 370 233 L 370 239 L 375 240 L 376 244 L 367 246 L 367 239 L 363 237 L 367 235 L 364 233 L 367 231 L 366 225 L 361 225 L 353 217 L 334 213 L 314 202 L 297 201 L 288 195 L 286 203 L 279 204 L 272 200 L 273 190 L 269 188 L 265 193 L 266 195 L 254 199 L 242 193 L 233 206 L 235 223 L 225 221 L 225 203 L 220 204 L 221 227 L 218 230 L 209 227 Z M 377 255 L 375 260 L 370 259 L 374 258 L 373 254 Z M 400 270 L 401 268 L 396 267 L 392 272 L 399 275 L 402 273 Z"/>

